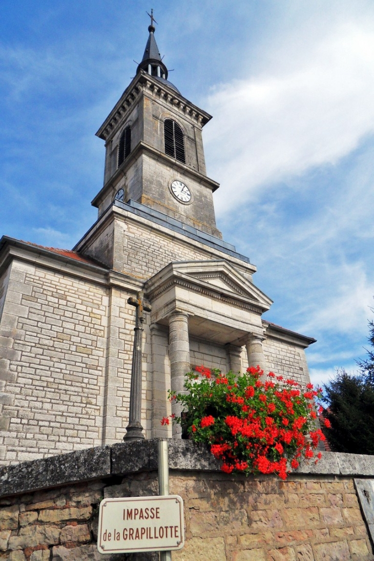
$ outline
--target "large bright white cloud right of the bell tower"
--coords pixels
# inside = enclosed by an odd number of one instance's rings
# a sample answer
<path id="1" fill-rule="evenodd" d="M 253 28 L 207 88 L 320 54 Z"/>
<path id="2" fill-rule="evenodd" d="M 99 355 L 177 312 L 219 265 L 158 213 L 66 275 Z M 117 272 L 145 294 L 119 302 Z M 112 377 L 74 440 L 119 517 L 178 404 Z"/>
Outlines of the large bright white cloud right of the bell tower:
<path id="1" fill-rule="evenodd" d="M 260 187 L 338 162 L 374 131 L 374 18 L 335 22 L 303 45 L 293 39 L 270 44 L 267 67 L 218 86 L 207 100 L 215 118 L 206 151 L 222 186 L 218 215 Z"/>

